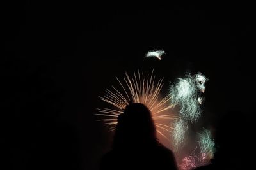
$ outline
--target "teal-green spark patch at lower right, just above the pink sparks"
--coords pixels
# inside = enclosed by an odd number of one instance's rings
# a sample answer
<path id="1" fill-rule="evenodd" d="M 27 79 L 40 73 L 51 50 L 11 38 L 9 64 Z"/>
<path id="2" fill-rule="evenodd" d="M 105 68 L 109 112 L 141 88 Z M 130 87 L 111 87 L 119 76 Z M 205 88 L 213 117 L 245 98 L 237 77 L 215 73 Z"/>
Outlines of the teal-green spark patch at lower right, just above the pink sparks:
<path id="1" fill-rule="evenodd" d="M 198 133 L 199 136 L 199 146 L 201 153 L 205 153 L 205 157 L 207 159 L 212 159 L 214 157 L 215 152 L 215 143 L 212 138 L 211 131 L 204 129 L 202 133 Z"/>

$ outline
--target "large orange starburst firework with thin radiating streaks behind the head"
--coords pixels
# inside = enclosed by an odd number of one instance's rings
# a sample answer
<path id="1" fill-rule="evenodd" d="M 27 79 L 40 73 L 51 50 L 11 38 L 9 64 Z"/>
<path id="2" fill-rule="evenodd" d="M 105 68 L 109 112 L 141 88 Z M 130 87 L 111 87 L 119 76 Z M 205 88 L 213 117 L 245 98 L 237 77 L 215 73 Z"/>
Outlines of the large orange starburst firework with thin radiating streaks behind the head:
<path id="1" fill-rule="evenodd" d="M 170 122 L 179 117 L 172 115 L 172 113 L 164 113 L 164 111 L 173 108 L 173 104 L 170 104 L 172 97 L 169 95 L 161 99 L 159 97 L 163 87 L 163 79 L 155 81 L 153 71 L 147 76 L 144 76 L 143 73 L 138 71 L 138 73 L 134 73 L 134 76 L 131 78 L 127 73 L 125 73 L 124 84 L 118 78 L 116 78 L 116 80 L 122 87 L 122 91 L 113 87 L 112 91 L 107 89 L 106 95 L 100 97 L 102 101 L 115 106 L 115 109 L 97 109 L 99 113 L 96 115 L 104 117 L 99 121 L 112 125 L 110 131 L 114 131 L 115 125 L 117 124 L 117 117 L 123 113 L 123 110 L 129 104 L 129 101 L 142 103 L 151 111 L 152 118 L 155 120 L 154 122 L 157 127 L 157 132 L 164 136 L 164 138 L 167 138 L 163 134 L 163 131 L 172 132 L 173 127 L 169 124 L 160 124 L 157 120 L 168 120 Z"/>

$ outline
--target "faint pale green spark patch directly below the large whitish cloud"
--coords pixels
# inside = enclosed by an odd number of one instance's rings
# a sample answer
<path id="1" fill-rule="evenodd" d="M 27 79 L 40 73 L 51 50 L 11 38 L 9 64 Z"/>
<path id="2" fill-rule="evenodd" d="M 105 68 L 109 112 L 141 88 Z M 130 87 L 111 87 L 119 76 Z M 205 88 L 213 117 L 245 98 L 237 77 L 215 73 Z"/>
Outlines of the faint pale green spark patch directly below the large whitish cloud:
<path id="1" fill-rule="evenodd" d="M 186 131 L 188 129 L 188 124 L 180 118 L 179 120 L 174 120 L 173 125 L 173 141 L 174 141 L 174 147 L 175 150 L 180 150 L 182 146 L 184 146 L 185 137 L 186 137 Z"/>

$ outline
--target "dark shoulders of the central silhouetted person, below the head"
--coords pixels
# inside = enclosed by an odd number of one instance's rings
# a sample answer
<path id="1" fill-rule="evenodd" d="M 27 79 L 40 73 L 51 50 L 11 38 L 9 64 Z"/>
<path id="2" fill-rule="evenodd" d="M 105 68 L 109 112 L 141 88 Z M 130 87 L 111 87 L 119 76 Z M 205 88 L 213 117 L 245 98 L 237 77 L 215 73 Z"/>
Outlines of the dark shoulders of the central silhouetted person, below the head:
<path id="1" fill-rule="evenodd" d="M 111 150 L 102 158 L 100 169 L 177 169 L 171 150 L 159 144 L 151 148 Z"/>

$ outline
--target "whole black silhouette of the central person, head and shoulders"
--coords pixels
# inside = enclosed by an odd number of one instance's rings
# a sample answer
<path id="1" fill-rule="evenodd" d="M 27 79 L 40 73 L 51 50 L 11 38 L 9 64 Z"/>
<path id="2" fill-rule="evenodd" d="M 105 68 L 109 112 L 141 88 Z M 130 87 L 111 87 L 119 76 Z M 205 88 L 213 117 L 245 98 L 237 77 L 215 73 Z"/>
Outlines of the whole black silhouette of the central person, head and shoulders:
<path id="1" fill-rule="evenodd" d="M 100 169 L 177 169 L 172 151 L 157 141 L 146 106 L 131 103 L 118 117 L 113 148 L 104 155 Z"/>

